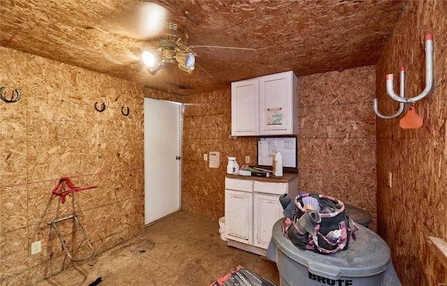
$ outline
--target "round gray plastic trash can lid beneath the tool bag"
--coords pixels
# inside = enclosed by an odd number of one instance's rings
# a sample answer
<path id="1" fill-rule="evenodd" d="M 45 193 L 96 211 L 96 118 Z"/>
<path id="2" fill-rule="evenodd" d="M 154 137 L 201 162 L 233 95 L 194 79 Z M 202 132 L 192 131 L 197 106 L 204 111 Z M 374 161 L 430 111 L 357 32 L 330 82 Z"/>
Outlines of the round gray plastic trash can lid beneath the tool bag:
<path id="1" fill-rule="evenodd" d="M 284 237 L 278 220 L 272 229 L 276 251 L 281 251 L 293 261 L 307 267 L 309 272 L 330 279 L 367 277 L 382 273 L 391 264 L 390 248 L 374 231 L 358 225 L 356 242 L 349 243 L 347 250 L 323 255 L 312 250 L 302 250 Z"/>

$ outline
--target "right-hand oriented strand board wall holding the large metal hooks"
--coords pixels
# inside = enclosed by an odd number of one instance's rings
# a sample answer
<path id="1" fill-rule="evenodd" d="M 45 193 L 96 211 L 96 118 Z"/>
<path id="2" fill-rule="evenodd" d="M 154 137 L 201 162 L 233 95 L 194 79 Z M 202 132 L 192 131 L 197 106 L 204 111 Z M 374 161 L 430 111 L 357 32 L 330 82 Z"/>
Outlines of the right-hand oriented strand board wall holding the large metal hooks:
<path id="1" fill-rule="evenodd" d="M 425 87 L 424 36 L 434 35 L 434 90 L 416 103 L 420 129 L 400 129 L 400 117 L 377 118 L 378 232 L 390 245 L 402 285 L 446 285 L 446 265 L 429 248 L 428 236 L 447 241 L 447 2 L 409 1 L 376 66 L 379 110 L 394 114 L 386 74 L 406 66 L 406 96 Z M 406 106 L 408 108 L 409 106 Z M 388 172 L 393 187 L 388 187 Z M 444 259 L 445 261 L 445 259 Z"/>

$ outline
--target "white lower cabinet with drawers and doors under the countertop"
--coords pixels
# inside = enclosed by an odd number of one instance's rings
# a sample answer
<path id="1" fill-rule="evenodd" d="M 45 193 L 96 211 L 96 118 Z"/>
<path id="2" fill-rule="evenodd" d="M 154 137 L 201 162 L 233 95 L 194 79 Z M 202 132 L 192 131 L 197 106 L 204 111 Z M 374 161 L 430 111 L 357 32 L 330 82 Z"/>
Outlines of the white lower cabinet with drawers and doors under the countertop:
<path id="1" fill-rule="evenodd" d="M 279 196 L 298 193 L 298 176 L 286 182 L 225 178 L 225 237 L 228 245 L 265 255 L 272 227 L 283 217 Z"/>

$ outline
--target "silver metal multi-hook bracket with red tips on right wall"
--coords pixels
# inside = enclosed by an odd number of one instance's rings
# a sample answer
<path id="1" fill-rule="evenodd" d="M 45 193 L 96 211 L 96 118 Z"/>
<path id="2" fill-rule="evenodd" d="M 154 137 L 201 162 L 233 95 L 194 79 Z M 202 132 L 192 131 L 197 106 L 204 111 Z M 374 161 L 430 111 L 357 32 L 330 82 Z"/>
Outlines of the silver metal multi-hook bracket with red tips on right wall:
<path id="1" fill-rule="evenodd" d="M 379 113 L 377 108 L 377 99 L 374 99 L 374 112 L 377 116 L 383 119 L 392 119 L 394 117 L 399 116 L 404 110 L 404 103 L 415 103 L 416 101 L 420 101 L 425 96 L 427 96 L 433 88 L 433 35 L 427 34 L 425 35 L 425 89 L 418 96 L 414 96 L 411 98 L 406 98 L 404 89 L 405 89 L 405 68 L 402 67 L 400 69 L 400 95 L 395 94 L 393 87 L 393 73 L 386 75 L 386 92 L 391 99 L 400 103 L 399 111 L 395 115 L 385 116 Z"/>

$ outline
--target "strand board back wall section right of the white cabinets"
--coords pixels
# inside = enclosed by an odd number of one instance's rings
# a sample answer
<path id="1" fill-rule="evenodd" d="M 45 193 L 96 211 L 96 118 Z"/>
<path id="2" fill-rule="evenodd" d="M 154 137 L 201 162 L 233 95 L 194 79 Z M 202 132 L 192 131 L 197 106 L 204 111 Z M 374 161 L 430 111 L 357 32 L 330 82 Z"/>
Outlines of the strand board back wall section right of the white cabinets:
<path id="1" fill-rule="evenodd" d="M 375 67 L 304 76 L 298 88 L 299 191 L 367 210 L 376 230 Z"/>

